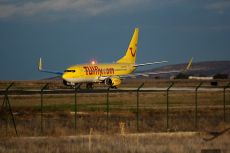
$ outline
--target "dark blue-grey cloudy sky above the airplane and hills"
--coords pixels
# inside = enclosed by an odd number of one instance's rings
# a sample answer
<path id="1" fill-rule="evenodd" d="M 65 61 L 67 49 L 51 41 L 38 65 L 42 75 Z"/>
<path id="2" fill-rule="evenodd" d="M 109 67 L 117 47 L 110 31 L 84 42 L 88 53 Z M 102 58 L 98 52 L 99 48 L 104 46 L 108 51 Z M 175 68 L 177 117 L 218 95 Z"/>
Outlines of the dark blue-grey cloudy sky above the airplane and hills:
<path id="1" fill-rule="evenodd" d="M 114 62 L 138 27 L 137 63 L 230 60 L 229 0 L 0 0 L 0 80 Z M 154 65 L 151 67 L 159 67 Z"/>

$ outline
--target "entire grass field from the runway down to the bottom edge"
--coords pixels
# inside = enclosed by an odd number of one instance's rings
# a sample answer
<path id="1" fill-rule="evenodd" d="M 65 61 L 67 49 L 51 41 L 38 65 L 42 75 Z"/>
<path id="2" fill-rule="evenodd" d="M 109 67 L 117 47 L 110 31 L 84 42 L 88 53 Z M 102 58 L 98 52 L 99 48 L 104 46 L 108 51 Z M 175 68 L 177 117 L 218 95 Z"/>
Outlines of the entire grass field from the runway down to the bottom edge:
<path id="1" fill-rule="evenodd" d="M 223 88 L 229 82 L 217 81 L 218 86 L 213 87 L 208 81 L 202 86 Z M 142 82 L 145 82 L 144 87 L 167 87 L 171 83 L 167 80 L 128 80 L 122 87 L 137 87 Z M 40 89 L 45 83 L 47 81 L 16 81 L 12 89 Z M 200 82 L 176 80 L 174 83 L 175 87 L 195 89 Z M 0 89 L 9 84 L 9 81 L 0 81 Z M 49 82 L 49 89 L 56 88 L 66 87 L 60 81 Z M 101 88 L 101 85 L 96 88 Z M 1 95 L 0 101 L 3 98 L 4 95 Z M 207 134 L 210 131 L 223 131 L 230 127 L 229 90 L 226 92 L 225 122 L 223 92 L 198 92 L 197 128 L 194 122 L 195 92 L 170 91 L 168 128 L 166 92 L 140 92 L 139 132 L 147 134 L 139 136 L 132 135 L 137 133 L 136 92 L 110 93 L 108 116 L 106 93 L 77 94 L 76 131 L 74 94 L 45 94 L 43 98 L 41 132 L 40 94 L 9 95 L 20 137 L 15 138 L 12 121 L 8 118 L 6 122 L 1 110 L 0 152 L 200 152 L 205 148 L 220 148 L 222 152 L 229 152 L 229 132 L 211 142 L 203 140 L 203 137 L 210 137 Z M 119 135 L 120 123 L 124 124 L 125 136 Z M 89 150 L 87 135 L 90 129 L 93 129 L 93 147 Z M 191 136 L 191 131 L 198 133 Z M 75 134 L 76 137 L 66 137 Z"/>

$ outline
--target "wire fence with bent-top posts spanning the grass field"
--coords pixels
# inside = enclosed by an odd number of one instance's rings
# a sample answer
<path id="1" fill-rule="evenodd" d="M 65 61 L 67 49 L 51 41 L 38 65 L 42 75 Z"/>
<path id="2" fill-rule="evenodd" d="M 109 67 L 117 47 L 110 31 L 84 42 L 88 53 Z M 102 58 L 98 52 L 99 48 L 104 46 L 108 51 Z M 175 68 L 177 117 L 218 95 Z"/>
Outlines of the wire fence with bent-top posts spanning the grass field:
<path id="1" fill-rule="evenodd" d="M 1 136 L 202 131 L 230 123 L 230 83 L 221 87 L 10 89 L 0 91 Z M 122 126 L 121 126 L 122 125 Z"/>

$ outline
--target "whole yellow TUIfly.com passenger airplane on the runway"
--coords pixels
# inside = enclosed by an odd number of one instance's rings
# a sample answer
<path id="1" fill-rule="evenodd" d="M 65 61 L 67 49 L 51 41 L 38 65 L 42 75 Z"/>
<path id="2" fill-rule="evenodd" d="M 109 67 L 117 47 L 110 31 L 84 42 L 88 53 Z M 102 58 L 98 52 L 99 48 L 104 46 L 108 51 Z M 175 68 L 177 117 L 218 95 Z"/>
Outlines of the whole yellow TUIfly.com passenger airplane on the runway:
<path id="1" fill-rule="evenodd" d="M 62 76 L 63 83 L 67 86 L 76 86 L 79 83 L 86 83 L 86 88 L 93 88 L 94 83 L 104 83 L 111 88 L 117 88 L 121 84 L 121 79 L 134 76 L 148 76 L 151 73 L 131 74 L 139 66 L 165 63 L 167 61 L 135 64 L 139 29 L 135 28 L 132 39 L 129 43 L 126 54 L 117 60 L 116 63 L 98 64 L 78 64 L 68 67 L 64 72 L 45 70 L 42 68 L 42 59 L 39 60 L 38 70 Z M 189 66 L 190 67 L 190 66 Z M 162 72 L 160 72 L 162 73 Z M 165 72 L 163 72 L 165 73 Z M 170 73 L 170 72 L 167 72 Z M 152 73 L 156 74 L 156 73 Z M 157 73 L 159 74 L 159 73 Z"/>

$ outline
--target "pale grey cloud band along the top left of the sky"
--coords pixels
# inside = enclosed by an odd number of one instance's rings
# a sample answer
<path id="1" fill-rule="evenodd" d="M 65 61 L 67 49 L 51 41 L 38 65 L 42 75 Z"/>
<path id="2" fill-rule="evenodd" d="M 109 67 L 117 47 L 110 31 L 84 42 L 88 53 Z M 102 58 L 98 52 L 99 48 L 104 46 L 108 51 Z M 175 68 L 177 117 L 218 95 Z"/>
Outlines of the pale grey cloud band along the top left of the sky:
<path id="1" fill-rule="evenodd" d="M 146 0 L 15 0 L 8 2 L 0 0 L 0 18 L 36 16 L 46 13 L 96 16 L 132 9 L 144 1 Z"/>

